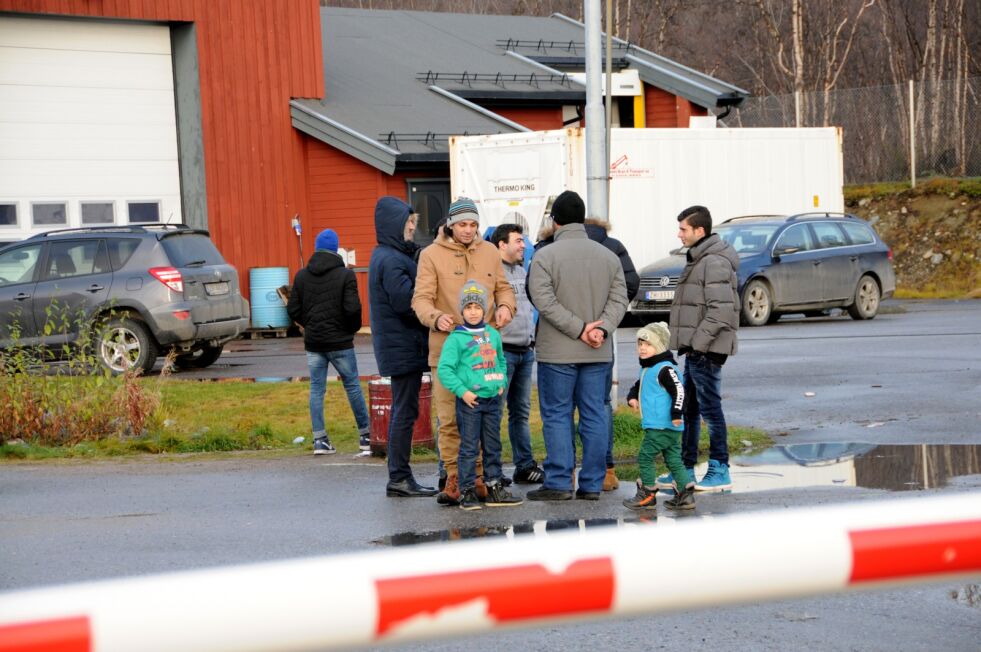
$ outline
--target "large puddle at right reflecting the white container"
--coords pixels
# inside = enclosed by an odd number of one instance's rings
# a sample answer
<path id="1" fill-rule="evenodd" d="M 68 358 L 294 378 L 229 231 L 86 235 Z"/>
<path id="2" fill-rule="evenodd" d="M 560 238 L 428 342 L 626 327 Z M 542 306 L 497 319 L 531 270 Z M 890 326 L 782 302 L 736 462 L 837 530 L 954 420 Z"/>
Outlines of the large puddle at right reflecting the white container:
<path id="1" fill-rule="evenodd" d="M 823 486 L 911 491 L 981 473 L 981 445 L 791 444 L 734 455 L 729 464 L 734 492 Z"/>

